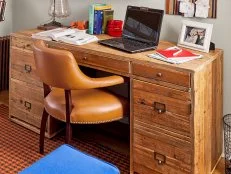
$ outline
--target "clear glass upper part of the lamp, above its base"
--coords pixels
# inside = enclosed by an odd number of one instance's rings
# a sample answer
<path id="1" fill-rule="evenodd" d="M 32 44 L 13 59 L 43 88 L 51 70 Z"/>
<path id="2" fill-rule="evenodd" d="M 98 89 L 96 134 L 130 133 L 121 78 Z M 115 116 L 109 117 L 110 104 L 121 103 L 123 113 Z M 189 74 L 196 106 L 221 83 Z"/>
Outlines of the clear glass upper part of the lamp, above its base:
<path id="1" fill-rule="evenodd" d="M 65 18 L 70 16 L 71 10 L 68 0 L 50 0 L 48 14 L 57 18 Z"/>

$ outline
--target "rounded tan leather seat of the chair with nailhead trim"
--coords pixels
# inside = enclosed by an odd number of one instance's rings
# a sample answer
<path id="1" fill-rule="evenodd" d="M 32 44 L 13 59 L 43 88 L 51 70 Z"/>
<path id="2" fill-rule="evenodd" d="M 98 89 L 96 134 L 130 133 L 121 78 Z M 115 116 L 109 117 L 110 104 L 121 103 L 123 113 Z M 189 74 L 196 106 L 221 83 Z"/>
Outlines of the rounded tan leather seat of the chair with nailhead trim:
<path id="1" fill-rule="evenodd" d="M 123 98 L 101 89 L 72 90 L 71 123 L 97 124 L 121 119 L 128 108 Z M 45 109 L 53 117 L 66 121 L 63 89 L 54 88 L 45 98 Z"/>

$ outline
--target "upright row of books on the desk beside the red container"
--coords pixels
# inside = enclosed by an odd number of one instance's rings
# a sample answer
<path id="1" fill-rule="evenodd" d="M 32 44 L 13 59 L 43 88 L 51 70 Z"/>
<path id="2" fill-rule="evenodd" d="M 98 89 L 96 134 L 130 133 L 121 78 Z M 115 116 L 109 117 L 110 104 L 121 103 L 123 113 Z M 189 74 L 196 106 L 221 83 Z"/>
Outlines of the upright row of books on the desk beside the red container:
<path id="1" fill-rule="evenodd" d="M 113 19 L 114 10 L 111 5 L 91 4 L 89 6 L 89 34 L 106 33 L 107 22 Z"/>

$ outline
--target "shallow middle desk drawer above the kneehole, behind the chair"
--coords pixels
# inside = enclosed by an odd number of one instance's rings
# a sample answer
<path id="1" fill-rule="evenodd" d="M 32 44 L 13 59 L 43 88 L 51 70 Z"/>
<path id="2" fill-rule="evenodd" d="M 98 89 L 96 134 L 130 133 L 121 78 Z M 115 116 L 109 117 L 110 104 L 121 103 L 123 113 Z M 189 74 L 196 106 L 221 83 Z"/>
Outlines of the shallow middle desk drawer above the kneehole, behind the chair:
<path id="1" fill-rule="evenodd" d="M 99 55 L 88 54 L 83 52 L 74 52 L 74 56 L 80 64 L 87 64 L 100 67 L 102 70 L 112 70 L 129 74 L 129 62 L 102 57 Z"/>

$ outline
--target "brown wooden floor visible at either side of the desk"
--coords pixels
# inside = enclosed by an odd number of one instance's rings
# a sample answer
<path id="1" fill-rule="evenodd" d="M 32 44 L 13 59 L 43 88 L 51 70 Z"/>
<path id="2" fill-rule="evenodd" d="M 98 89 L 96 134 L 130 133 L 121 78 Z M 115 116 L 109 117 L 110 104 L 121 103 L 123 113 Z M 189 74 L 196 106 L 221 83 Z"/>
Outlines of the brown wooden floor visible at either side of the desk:
<path id="1" fill-rule="evenodd" d="M 0 91 L 0 104 L 6 104 L 8 105 L 9 97 L 8 97 L 8 91 Z M 214 170 L 213 174 L 224 174 L 224 158 L 222 158 L 217 165 L 217 168 Z"/>

